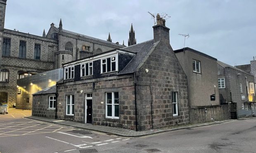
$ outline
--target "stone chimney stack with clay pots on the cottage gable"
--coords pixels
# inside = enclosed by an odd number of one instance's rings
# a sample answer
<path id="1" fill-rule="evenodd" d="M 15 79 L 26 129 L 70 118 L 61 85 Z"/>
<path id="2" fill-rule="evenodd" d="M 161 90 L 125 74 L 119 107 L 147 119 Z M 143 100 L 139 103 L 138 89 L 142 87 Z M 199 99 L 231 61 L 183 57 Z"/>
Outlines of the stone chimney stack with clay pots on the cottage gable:
<path id="1" fill-rule="evenodd" d="M 156 26 L 153 26 L 154 42 L 162 41 L 170 44 L 170 29 L 165 26 L 165 19 L 156 15 Z"/>

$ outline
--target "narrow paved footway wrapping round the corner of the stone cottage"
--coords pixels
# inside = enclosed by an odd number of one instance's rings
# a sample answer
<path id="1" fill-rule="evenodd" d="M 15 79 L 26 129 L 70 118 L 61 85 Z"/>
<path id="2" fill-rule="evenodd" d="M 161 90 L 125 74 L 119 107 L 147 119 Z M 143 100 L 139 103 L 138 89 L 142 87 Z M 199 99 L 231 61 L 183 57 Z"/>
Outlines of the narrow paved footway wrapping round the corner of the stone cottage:
<path id="1" fill-rule="evenodd" d="M 60 125 L 66 125 L 66 126 L 76 127 L 76 128 L 80 128 L 80 129 L 96 131 L 96 132 L 104 132 L 107 134 L 114 134 L 114 135 L 118 135 L 121 137 L 142 137 L 145 135 L 156 134 L 156 133 L 161 133 L 161 132 L 168 132 L 168 131 L 173 131 L 173 130 L 187 129 L 187 128 L 192 128 L 192 127 L 200 127 L 200 126 L 207 126 L 207 125 L 220 124 L 220 123 L 225 123 L 225 122 L 229 122 L 229 121 L 234 121 L 234 120 L 213 121 L 213 122 L 207 122 L 207 123 L 189 124 L 189 125 L 182 125 L 182 126 L 176 126 L 176 127 L 165 127 L 165 128 L 136 132 L 133 130 L 121 129 L 121 128 L 116 128 L 116 127 L 83 124 L 83 123 L 76 123 L 76 122 L 71 122 L 71 121 L 64 121 L 64 120 L 52 119 L 52 118 L 44 118 L 44 117 L 38 117 L 38 116 L 27 116 L 25 118 L 30 118 L 30 119 L 34 119 L 34 120 L 38 120 L 38 121 L 44 121 L 44 122 L 48 122 L 48 123 L 56 123 L 56 124 L 60 124 Z"/>

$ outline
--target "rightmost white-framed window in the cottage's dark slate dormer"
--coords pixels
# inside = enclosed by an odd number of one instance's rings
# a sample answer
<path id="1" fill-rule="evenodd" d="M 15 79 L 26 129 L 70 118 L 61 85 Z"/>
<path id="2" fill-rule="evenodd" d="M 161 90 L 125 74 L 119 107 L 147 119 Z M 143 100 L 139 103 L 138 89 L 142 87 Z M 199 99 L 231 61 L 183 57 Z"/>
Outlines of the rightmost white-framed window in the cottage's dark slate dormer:
<path id="1" fill-rule="evenodd" d="M 116 56 L 104 58 L 101 61 L 102 61 L 101 73 L 116 71 Z"/>

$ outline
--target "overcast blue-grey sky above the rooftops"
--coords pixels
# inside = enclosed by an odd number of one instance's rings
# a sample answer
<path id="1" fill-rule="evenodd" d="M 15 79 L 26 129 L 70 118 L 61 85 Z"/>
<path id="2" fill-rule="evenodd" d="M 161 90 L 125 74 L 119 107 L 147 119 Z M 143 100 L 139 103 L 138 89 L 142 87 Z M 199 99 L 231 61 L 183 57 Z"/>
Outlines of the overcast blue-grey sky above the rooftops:
<path id="1" fill-rule="evenodd" d="M 137 43 L 153 39 L 147 12 L 170 19 L 173 49 L 186 46 L 230 65 L 249 64 L 256 56 L 256 0 L 7 0 L 5 28 L 42 35 L 53 22 L 63 29 L 128 44 L 133 23 Z"/>

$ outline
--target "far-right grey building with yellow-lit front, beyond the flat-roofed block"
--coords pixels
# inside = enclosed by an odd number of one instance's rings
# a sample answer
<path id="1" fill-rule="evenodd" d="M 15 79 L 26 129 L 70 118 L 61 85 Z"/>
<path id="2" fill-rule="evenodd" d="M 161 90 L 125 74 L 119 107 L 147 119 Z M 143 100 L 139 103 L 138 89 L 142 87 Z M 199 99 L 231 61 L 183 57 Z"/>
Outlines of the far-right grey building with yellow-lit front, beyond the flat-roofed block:
<path id="1" fill-rule="evenodd" d="M 226 63 L 217 63 L 221 103 L 230 104 L 233 119 L 251 116 L 251 106 L 256 102 L 254 76 Z"/>

